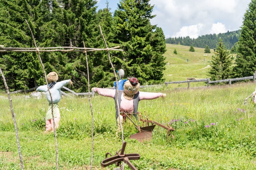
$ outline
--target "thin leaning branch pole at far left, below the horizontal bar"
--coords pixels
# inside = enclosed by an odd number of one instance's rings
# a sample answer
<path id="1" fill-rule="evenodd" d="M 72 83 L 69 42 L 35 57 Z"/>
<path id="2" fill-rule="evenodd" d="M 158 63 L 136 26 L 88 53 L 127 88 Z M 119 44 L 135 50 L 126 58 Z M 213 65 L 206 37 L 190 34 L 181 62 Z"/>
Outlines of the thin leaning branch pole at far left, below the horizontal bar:
<path id="1" fill-rule="evenodd" d="M 12 100 L 11 100 L 11 95 L 10 95 L 10 92 L 9 92 L 9 87 L 7 86 L 7 83 L 6 83 L 6 78 L 4 77 L 4 73 L 2 72 L 1 68 L 0 68 L 0 73 L 1 73 L 2 78 L 4 80 L 4 86 L 6 87 L 6 91 L 7 91 L 10 107 L 11 107 L 11 115 L 13 117 L 13 123 L 14 123 L 14 128 L 15 128 L 15 133 L 16 133 L 16 141 L 17 141 L 18 152 L 19 152 L 19 157 L 20 157 L 20 169 L 23 170 L 23 168 L 24 168 L 24 166 L 23 166 L 23 159 L 22 159 L 22 155 L 21 155 L 21 151 L 20 151 L 20 140 L 19 140 L 19 134 L 18 134 L 16 119 L 15 119 L 15 114 L 14 114 L 14 111 L 13 111 L 13 103 L 12 103 Z"/>

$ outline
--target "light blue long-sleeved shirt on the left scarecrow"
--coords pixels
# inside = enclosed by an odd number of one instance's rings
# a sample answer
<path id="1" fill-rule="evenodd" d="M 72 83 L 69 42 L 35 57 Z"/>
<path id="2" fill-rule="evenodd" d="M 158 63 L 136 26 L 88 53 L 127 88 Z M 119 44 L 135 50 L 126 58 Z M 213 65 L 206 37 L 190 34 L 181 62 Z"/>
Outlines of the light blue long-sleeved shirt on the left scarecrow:
<path id="1" fill-rule="evenodd" d="M 63 80 L 63 81 L 60 81 L 60 82 L 56 82 L 56 84 L 54 84 L 54 86 L 50 89 L 50 92 L 52 94 L 52 101 L 53 101 L 53 103 L 58 103 L 60 101 L 60 99 L 61 99 L 61 91 L 60 91 L 60 89 L 63 86 L 65 86 L 66 84 L 69 84 L 69 81 L 70 81 L 70 79 L 69 80 Z M 47 92 L 46 93 L 46 98 L 47 98 L 49 103 L 52 103 L 51 97 L 50 97 L 50 93 L 48 92 L 47 85 L 39 86 L 37 88 L 37 91 Z"/>

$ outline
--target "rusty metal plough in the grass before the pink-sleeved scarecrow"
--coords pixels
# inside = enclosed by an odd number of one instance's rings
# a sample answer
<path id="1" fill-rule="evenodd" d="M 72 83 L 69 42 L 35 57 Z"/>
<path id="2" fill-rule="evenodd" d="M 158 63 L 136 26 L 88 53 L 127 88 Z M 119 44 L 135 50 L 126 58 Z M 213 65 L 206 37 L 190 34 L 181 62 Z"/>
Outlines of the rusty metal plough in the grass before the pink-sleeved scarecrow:
<path id="1" fill-rule="evenodd" d="M 130 119 L 130 121 L 132 121 L 132 119 L 126 113 L 124 113 L 124 114 L 126 115 L 126 117 L 128 117 L 128 119 Z M 134 121 L 132 121 L 132 123 L 135 125 L 135 127 L 137 128 L 137 130 L 139 132 L 135 133 L 133 135 L 130 135 L 130 139 L 136 139 L 139 142 L 151 140 L 152 131 L 154 130 L 156 125 L 158 125 L 162 128 L 165 128 L 167 130 L 167 139 L 169 138 L 169 135 L 171 135 L 172 138 L 174 139 L 174 136 L 172 134 L 170 134 L 170 131 L 171 132 L 174 131 L 174 128 L 169 126 L 169 124 L 167 126 L 164 126 L 163 124 L 160 124 L 156 121 L 142 119 L 143 118 L 142 113 L 137 113 L 137 115 L 139 115 L 139 121 L 142 122 L 143 126 L 138 126 L 137 124 L 135 124 Z M 145 115 L 146 115 L 146 113 L 145 113 Z"/>

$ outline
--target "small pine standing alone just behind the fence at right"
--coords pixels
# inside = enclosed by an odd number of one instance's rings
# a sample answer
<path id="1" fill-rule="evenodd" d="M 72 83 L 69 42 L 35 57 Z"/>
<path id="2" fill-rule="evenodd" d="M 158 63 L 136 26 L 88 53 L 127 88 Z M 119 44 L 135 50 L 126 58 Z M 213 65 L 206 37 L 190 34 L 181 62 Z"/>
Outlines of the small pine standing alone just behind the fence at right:
<path id="1" fill-rule="evenodd" d="M 229 55 L 226 46 L 224 46 L 221 38 L 216 48 L 215 55 L 212 56 L 211 69 L 208 72 L 211 80 L 223 80 L 231 77 L 232 58 Z"/>

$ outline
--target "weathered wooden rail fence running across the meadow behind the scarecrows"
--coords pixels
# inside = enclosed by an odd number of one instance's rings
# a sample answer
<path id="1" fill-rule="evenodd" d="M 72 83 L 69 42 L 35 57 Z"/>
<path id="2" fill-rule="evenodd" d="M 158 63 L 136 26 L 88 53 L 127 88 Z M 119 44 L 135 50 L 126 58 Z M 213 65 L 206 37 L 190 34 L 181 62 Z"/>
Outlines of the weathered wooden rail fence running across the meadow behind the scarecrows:
<path id="1" fill-rule="evenodd" d="M 254 82 L 255 82 L 255 79 L 256 79 L 256 74 L 253 74 L 253 76 L 249 76 L 249 77 L 241 77 L 241 78 L 235 78 L 235 79 L 224 79 L 224 80 L 214 80 L 214 81 L 211 81 L 210 79 L 190 79 L 190 80 L 184 80 L 184 81 L 173 81 L 173 82 L 164 82 L 164 84 L 166 86 L 168 86 L 168 84 L 180 84 L 180 83 L 187 83 L 187 88 L 189 88 L 190 86 L 190 83 L 192 82 L 207 82 L 207 87 L 210 85 L 210 84 L 214 84 L 214 83 L 220 83 L 220 82 L 228 82 L 229 85 L 231 85 L 232 82 L 234 81 L 240 81 L 240 80 L 251 80 L 253 79 Z M 147 85 L 147 86 L 141 86 L 140 88 L 146 88 L 146 87 L 156 87 L 156 86 L 162 86 L 163 84 L 158 84 L 158 85 Z M 17 91 L 13 91 L 13 92 L 10 92 L 10 94 L 15 94 L 15 93 L 21 93 L 21 92 L 25 92 L 25 93 L 28 93 L 30 91 L 33 91 L 35 90 L 37 87 L 34 87 L 34 88 L 31 88 L 29 90 L 17 90 Z M 63 86 L 62 87 L 63 89 L 69 91 L 71 94 L 73 95 L 76 95 L 76 96 L 79 96 L 79 95 L 91 95 L 92 97 L 94 97 L 95 95 L 95 91 L 91 91 L 90 93 L 87 92 L 87 93 L 76 93 L 72 90 L 70 90 L 69 88 Z M 113 87 L 112 87 L 113 89 Z M 64 91 L 61 91 L 61 94 L 62 95 L 68 95 L 67 93 L 65 93 Z"/>

